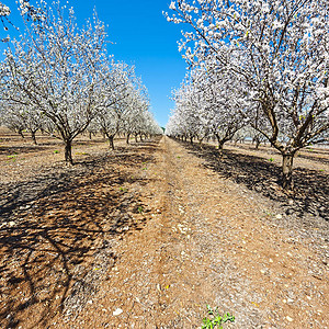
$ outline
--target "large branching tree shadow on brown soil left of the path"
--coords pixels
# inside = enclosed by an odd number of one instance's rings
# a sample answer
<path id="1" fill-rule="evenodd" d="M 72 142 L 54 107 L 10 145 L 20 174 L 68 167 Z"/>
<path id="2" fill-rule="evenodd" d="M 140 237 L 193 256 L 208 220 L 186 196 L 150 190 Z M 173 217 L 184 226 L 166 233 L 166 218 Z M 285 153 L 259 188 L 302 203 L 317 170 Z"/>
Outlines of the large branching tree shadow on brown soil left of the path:
<path id="1" fill-rule="evenodd" d="M 58 311 L 69 316 L 92 298 L 116 262 L 114 238 L 146 224 L 148 205 L 129 189 L 146 179 L 134 178 L 129 168 L 152 162 L 154 150 L 89 157 L 63 171 L 53 168 L 32 181 L 2 186 L 3 328 L 21 326 L 26 315 L 27 327 L 47 327 Z"/>

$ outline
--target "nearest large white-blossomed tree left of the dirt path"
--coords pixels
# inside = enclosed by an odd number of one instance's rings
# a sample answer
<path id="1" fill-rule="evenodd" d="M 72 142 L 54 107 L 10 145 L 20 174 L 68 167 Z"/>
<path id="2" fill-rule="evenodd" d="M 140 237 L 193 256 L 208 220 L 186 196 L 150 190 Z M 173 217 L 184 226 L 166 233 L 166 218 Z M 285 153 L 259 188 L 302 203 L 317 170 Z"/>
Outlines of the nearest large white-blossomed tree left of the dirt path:
<path id="1" fill-rule="evenodd" d="M 104 25 L 94 19 L 78 29 L 72 9 L 58 3 L 44 12 L 45 20 L 32 23 L 29 35 L 7 50 L 2 99 L 36 106 L 64 141 L 66 162 L 72 163 L 72 140 L 99 110 Z"/>

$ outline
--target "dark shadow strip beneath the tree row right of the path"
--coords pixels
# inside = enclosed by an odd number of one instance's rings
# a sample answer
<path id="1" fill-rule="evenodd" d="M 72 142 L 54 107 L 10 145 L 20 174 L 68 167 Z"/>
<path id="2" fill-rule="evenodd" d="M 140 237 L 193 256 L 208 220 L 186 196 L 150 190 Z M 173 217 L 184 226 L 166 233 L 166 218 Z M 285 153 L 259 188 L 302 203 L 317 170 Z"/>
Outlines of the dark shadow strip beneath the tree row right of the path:
<path id="1" fill-rule="evenodd" d="M 205 160 L 209 168 L 226 179 L 243 183 L 264 196 L 277 201 L 287 214 L 304 212 L 329 220 L 328 175 L 305 168 L 295 168 L 293 178 L 294 192 L 281 188 L 281 167 L 263 158 L 224 150 L 222 160 L 214 146 L 189 145 L 180 141 L 190 152 Z"/>

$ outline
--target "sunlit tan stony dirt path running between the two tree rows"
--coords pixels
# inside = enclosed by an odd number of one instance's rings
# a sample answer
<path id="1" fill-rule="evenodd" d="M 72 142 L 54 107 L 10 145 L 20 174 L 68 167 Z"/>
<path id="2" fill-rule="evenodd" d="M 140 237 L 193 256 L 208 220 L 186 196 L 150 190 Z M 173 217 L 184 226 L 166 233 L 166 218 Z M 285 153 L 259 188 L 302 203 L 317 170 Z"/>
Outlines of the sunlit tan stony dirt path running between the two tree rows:
<path id="1" fill-rule="evenodd" d="M 236 316 L 225 328 L 329 328 L 328 265 L 307 240 L 168 137 L 155 157 L 146 226 L 113 241 L 102 293 L 50 328 L 198 328 L 206 304 Z"/>

